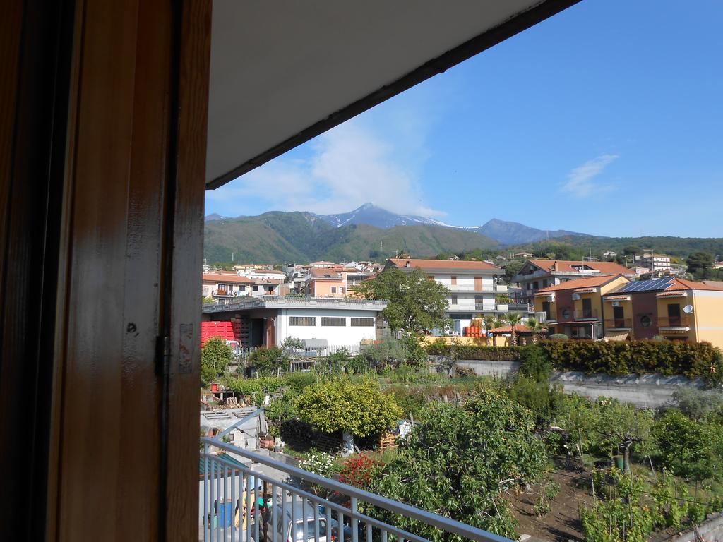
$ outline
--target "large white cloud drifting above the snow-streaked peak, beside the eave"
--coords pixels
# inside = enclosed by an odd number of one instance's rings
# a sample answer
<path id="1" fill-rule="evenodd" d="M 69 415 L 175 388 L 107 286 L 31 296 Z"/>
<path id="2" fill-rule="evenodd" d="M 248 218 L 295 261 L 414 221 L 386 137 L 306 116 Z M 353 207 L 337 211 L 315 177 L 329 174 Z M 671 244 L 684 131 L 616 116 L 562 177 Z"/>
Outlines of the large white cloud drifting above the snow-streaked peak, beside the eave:
<path id="1" fill-rule="evenodd" d="M 260 209 L 347 212 L 366 202 L 392 212 L 444 215 L 424 204 L 414 176 L 427 157 L 423 136 L 414 142 L 385 138 L 355 119 L 322 134 L 309 150 L 303 160 L 281 157 L 262 165 L 207 192 L 207 200 L 234 216 Z"/>

